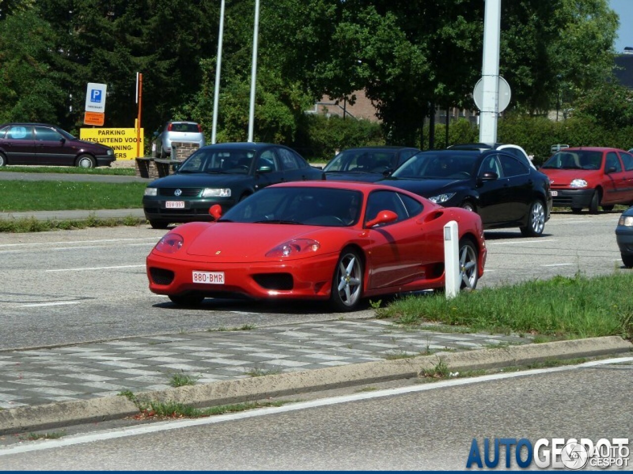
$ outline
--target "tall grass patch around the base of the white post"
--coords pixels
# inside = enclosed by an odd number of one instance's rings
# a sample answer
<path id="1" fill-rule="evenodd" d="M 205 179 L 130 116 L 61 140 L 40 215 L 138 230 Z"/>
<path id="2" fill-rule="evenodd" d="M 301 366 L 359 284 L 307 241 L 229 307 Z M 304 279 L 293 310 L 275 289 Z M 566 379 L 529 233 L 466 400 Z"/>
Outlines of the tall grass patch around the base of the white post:
<path id="1" fill-rule="evenodd" d="M 378 317 L 418 325 L 439 322 L 473 331 L 546 336 L 536 341 L 622 336 L 633 340 L 633 272 L 548 280 L 462 292 L 408 296 L 377 310 Z M 422 326 L 420 329 L 424 329 Z"/>

